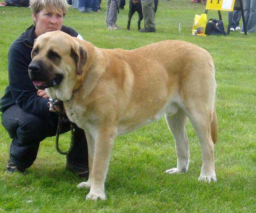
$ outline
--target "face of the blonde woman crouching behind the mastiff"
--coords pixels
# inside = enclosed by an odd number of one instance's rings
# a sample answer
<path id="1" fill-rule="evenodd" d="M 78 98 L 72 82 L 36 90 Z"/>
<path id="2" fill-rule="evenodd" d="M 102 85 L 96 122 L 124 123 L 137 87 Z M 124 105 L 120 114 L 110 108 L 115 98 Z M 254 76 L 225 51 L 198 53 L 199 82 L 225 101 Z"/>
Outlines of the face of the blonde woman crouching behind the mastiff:
<path id="1" fill-rule="evenodd" d="M 64 18 L 63 12 L 51 11 L 49 9 L 40 10 L 32 16 L 36 23 L 36 37 L 46 32 L 60 30 Z"/>

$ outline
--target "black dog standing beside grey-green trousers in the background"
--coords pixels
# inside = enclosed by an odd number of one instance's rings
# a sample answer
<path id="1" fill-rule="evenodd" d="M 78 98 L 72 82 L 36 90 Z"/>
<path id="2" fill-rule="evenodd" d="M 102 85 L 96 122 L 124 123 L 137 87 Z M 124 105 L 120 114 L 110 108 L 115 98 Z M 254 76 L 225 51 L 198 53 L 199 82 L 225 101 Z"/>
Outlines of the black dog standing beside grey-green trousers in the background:
<path id="1" fill-rule="evenodd" d="M 158 0 L 154 0 L 154 4 L 155 4 L 155 12 L 156 12 Z M 128 14 L 128 24 L 127 24 L 128 30 L 130 30 L 131 18 L 136 11 L 138 12 L 138 16 L 139 16 L 138 30 L 140 30 L 140 22 L 143 19 L 141 2 L 140 0 L 129 0 L 129 14 Z"/>

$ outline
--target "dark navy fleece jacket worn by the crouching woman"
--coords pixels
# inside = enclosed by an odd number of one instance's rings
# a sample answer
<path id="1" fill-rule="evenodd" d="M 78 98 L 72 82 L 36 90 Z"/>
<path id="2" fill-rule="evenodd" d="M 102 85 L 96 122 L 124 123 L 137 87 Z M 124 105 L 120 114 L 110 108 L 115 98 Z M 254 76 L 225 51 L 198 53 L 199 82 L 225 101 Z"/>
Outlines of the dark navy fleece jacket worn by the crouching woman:
<path id="1" fill-rule="evenodd" d="M 61 31 L 76 37 L 78 33 L 71 27 L 62 26 Z M 11 45 L 8 53 L 9 85 L 0 99 L 0 111 L 17 104 L 23 111 L 40 117 L 51 116 L 46 98 L 37 96 L 37 89 L 28 76 L 31 51 L 34 45 L 35 27 L 32 25 Z"/>

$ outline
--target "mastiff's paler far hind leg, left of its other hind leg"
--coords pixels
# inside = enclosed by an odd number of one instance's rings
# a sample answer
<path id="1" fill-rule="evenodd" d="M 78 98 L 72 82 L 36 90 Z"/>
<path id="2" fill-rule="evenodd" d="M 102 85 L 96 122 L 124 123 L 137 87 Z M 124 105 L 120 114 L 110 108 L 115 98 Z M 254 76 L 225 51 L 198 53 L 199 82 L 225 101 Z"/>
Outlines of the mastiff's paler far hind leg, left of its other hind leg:
<path id="1" fill-rule="evenodd" d="M 174 136 L 177 155 L 177 168 L 168 169 L 165 172 L 169 174 L 187 172 L 189 167 L 189 140 L 186 133 L 187 116 L 179 108 L 174 115 L 165 114 L 165 119 Z"/>

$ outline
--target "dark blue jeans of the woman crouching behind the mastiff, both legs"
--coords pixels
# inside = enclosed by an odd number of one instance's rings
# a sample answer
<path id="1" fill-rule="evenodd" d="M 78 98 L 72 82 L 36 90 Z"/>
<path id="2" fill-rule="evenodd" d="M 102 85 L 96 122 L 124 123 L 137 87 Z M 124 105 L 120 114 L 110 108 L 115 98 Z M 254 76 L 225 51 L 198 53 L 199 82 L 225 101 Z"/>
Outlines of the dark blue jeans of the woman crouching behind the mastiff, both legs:
<path id="1" fill-rule="evenodd" d="M 10 158 L 17 165 L 30 167 L 37 158 L 39 144 L 46 137 L 54 136 L 57 130 L 58 116 L 42 118 L 24 112 L 13 105 L 2 113 L 2 125 L 12 139 L 10 144 Z M 70 130 L 70 123 L 64 123 L 61 133 Z M 78 167 L 88 166 L 88 153 L 85 134 L 76 127 L 74 131 L 74 149 L 67 156 L 67 161 Z"/>

